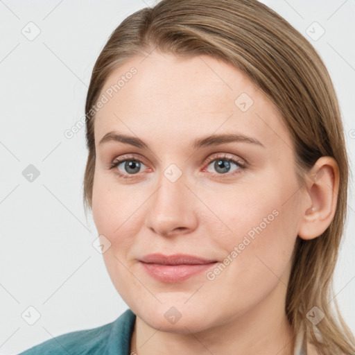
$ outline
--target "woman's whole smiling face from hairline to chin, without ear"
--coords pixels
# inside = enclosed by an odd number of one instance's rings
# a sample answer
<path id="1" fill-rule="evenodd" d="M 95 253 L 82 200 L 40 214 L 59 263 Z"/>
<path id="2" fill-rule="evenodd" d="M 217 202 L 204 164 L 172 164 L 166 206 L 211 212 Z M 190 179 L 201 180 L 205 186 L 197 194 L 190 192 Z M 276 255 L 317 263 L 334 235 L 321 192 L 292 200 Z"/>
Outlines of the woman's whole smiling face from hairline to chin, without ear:
<path id="1" fill-rule="evenodd" d="M 94 123 L 92 211 L 114 286 L 160 330 L 202 331 L 261 305 L 284 312 L 302 189 L 281 116 L 230 64 L 143 59 L 107 78 Z M 155 253 L 216 262 L 141 261 Z"/>

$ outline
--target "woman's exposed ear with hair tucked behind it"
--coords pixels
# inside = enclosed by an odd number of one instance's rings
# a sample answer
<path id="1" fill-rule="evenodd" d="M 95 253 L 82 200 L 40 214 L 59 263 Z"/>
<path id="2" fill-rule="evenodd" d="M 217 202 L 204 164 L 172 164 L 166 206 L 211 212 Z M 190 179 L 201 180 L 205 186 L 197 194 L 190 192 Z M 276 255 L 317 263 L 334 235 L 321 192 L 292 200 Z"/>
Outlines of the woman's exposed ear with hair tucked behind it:
<path id="1" fill-rule="evenodd" d="M 320 236 L 336 213 L 339 168 L 333 157 L 320 157 L 308 173 L 298 236 L 309 240 Z"/>

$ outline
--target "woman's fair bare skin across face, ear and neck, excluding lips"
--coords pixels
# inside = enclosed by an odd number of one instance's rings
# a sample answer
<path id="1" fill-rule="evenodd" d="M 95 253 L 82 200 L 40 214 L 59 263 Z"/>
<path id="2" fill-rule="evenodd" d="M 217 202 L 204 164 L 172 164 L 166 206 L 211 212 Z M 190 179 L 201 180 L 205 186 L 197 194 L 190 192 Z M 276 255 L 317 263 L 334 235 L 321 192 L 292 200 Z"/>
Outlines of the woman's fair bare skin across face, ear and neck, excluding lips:
<path id="1" fill-rule="evenodd" d="M 131 67 L 137 69 L 94 122 L 92 213 L 98 234 L 111 243 L 103 257 L 112 282 L 137 315 L 131 351 L 293 354 L 293 328 L 284 312 L 291 254 L 297 236 L 313 239 L 331 223 L 336 162 L 320 158 L 300 188 L 291 137 L 279 112 L 240 71 L 207 55 L 179 59 L 153 51 L 142 60 L 133 58 L 107 78 L 101 93 Z M 243 92 L 254 101 L 245 112 L 234 103 Z M 139 137 L 150 149 L 99 144 L 111 131 Z M 231 132 L 263 146 L 189 147 L 194 139 Z M 223 173 L 214 164 L 218 153 L 247 167 L 230 163 Z M 107 167 L 127 154 L 141 162 L 138 172 L 125 169 L 124 162 Z M 214 159 L 206 162 L 208 157 Z M 171 164 L 182 172 L 176 182 L 164 176 Z M 138 261 L 161 252 L 223 262 L 275 209 L 272 222 L 213 280 L 200 272 L 167 284 L 150 277 Z M 171 306 L 182 315 L 175 324 L 164 317 Z"/>

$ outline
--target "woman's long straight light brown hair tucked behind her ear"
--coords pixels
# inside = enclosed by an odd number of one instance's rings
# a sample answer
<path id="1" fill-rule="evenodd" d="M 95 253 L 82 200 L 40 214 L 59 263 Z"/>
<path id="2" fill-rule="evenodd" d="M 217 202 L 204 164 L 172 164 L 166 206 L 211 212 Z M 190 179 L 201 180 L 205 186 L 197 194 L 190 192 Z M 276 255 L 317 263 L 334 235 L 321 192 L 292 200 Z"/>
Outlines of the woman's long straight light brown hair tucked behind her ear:
<path id="1" fill-rule="evenodd" d="M 340 187 L 335 216 L 321 236 L 309 241 L 297 238 L 285 311 L 295 334 L 308 329 L 319 354 L 354 354 L 354 336 L 338 311 L 332 290 L 347 213 L 349 174 L 338 99 L 313 46 L 259 1 L 162 0 L 130 15 L 114 30 L 94 65 L 85 105 L 89 150 L 85 208 L 92 208 L 95 170 L 92 107 L 114 69 L 154 49 L 180 57 L 211 55 L 248 76 L 276 105 L 291 133 L 300 184 L 304 185 L 306 172 L 319 157 L 336 159 Z M 336 312 L 331 309 L 332 301 Z M 316 326 L 306 317 L 313 306 L 325 314 Z"/>

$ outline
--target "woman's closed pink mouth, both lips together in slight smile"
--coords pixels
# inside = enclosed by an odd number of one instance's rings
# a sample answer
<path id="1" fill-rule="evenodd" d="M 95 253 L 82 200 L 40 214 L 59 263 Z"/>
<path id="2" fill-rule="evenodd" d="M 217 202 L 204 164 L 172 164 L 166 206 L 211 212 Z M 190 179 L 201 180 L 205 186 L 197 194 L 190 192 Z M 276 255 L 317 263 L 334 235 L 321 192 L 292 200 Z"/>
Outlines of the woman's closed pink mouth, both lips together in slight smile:
<path id="1" fill-rule="evenodd" d="M 139 260 L 144 270 L 160 282 L 182 282 L 214 266 L 218 261 L 187 254 L 146 255 Z"/>

